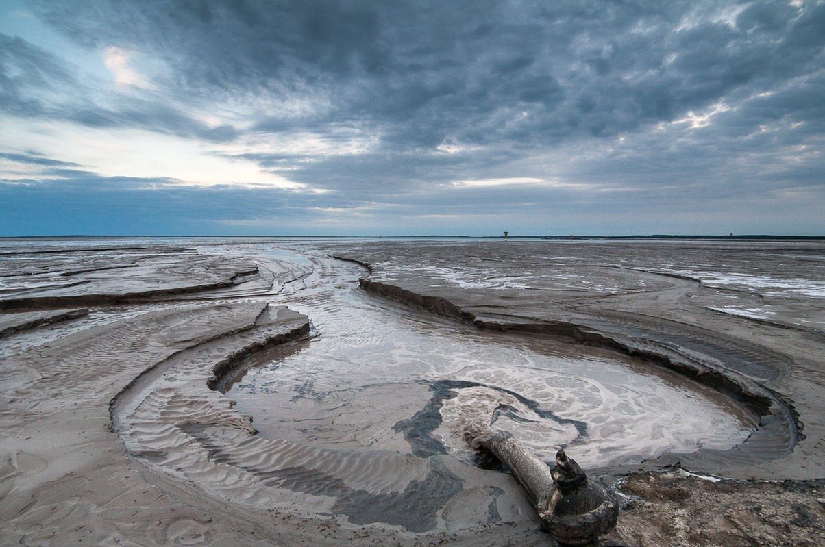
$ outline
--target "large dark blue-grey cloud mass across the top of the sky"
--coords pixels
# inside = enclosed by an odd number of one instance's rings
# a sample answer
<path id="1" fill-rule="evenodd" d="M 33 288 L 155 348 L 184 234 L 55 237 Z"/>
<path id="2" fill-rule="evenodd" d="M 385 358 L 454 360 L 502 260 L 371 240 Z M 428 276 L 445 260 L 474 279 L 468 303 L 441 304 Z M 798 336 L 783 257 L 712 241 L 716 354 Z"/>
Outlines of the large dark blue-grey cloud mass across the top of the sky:
<path id="1" fill-rule="evenodd" d="M 754 2 L 733 21 L 711 18 L 719 7 L 49 2 L 44 12 L 88 44 L 152 51 L 180 93 L 309 93 L 334 103 L 258 130 L 368 122 L 393 148 L 607 137 L 822 68 L 825 5 L 800 14 Z"/>

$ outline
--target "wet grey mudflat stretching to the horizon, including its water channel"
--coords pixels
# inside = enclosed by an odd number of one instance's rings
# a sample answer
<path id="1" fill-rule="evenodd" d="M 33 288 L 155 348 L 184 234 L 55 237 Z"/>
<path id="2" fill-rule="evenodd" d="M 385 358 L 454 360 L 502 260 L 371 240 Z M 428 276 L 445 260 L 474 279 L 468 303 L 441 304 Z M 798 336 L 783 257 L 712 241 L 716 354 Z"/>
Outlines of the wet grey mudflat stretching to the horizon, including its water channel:
<path id="1" fill-rule="evenodd" d="M 0 252 L 3 545 L 547 545 L 512 477 L 461 442 L 478 420 L 548 460 L 568 446 L 608 482 L 648 470 L 621 486 L 635 501 L 616 537 L 633 545 L 750 545 L 741 514 L 733 532 L 717 526 L 727 543 L 667 544 L 662 526 L 719 484 L 742 503 L 788 498 L 664 465 L 825 476 L 822 245 Z M 666 503 L 639 480 L 687 495 Z M 818 483 L 796 484 L 792 503 L 810 507 L 771 526 L 821 537 Z"/>

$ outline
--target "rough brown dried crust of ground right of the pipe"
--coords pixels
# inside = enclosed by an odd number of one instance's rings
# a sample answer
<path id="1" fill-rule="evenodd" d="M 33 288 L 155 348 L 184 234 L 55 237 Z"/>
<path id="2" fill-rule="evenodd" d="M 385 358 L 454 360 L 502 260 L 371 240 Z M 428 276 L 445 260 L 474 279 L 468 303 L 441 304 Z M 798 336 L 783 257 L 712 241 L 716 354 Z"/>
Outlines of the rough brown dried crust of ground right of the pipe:
<path id="1" fill-rule="evenodd" d="M 671 470 L 629 476 L 610 536 L 636 547 L 825 545 L 825 480 L 711 482 Z"/>

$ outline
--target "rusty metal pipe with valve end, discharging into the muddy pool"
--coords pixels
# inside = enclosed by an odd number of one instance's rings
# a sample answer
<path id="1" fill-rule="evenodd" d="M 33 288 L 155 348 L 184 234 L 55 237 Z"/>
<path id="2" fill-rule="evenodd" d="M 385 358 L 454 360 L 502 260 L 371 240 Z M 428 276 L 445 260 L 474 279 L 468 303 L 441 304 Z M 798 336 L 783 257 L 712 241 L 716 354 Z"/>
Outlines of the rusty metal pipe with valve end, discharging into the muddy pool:
<path id="1" fill-rule="evenodd" d="M 587 479 L 563 450 L 549 465 L 518 442 L 510 432 L 473 435 L 472 445 L 493 453 L 512 471 L 530 495 L 544 531 L 562 545 L 595 545 L 619 517 L 615 494 Z"/>

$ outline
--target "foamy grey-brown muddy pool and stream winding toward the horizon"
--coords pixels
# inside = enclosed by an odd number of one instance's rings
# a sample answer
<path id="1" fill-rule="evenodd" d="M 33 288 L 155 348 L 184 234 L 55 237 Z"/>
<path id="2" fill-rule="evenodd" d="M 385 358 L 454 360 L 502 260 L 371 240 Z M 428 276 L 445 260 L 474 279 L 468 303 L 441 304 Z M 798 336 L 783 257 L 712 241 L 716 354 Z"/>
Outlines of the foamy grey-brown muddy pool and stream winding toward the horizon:
<path id="1" fill-rule="evenodd" d="M 464 432 L 483 425 L 545 461 L 564 446 L 598 467 L 726 449 L 754 426 L 714 390 L 619 354 L 482 332 L 366 295 L 364 269 L 304 245 L 243 252 L 309 272 L 279 297 L 310 317 L 314 337 L 257 355 L 222 386 L 262 437 L 472 465 Z"/>

